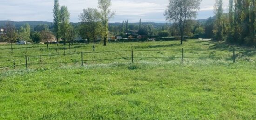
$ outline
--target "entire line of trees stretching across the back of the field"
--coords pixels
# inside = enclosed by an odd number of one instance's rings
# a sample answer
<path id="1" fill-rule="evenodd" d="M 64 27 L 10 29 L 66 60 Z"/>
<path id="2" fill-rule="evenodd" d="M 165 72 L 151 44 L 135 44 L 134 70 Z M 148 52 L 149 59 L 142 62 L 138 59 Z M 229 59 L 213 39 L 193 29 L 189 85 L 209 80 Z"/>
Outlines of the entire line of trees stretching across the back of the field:
<path id="1" fill-rule="evenodd" d="M 103 40 L 107 45 L 110 36 L 122 36 L 127 38 L 129 31 L 135 30 L 138 35 L 144 37 L 168 37 L 178 36 L 183 43 L 184 36 L 199 35 L 200 38 L 213 38 L 237 44 L 255 44 L 255 0 L 229 0 L 228 13 L 224 13 L 223 0 L 215 0 L 214 17 L 205 20 L 194 20 L 197 11 L 200 10 L 202 0 L 169 0 L 164 13 L 169 23 L 161 27 L 155 27 L 154 23 L 129 23 L 124 20 L 121 24 L 109 24 L 109 20 L 115 16 L 111 12 L 111 0 L 98 0 L 98 8 L 86 8 L 78 16 L 79 24 L 70 23 L 70 13 L 67 6 L 60 6 L 58 0 L 54 0 L 53 25 L 37 25 L 34 31 L 25 24 L 15 29 L 10 22 L 6 24 L 6 38 L 9 42 L 28 40 L 34 42 L 49 43 L 49 39 L 56 37 L 57 45 L 61 39 L 66 45 L 77 36 L 95 42 Z"/>

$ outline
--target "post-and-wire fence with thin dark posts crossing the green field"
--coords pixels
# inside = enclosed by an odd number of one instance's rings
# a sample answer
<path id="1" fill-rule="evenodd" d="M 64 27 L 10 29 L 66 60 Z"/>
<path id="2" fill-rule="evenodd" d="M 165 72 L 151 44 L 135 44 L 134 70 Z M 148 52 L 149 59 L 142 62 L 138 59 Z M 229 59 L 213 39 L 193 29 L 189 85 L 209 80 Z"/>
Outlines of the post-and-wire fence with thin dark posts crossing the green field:
<path id="1" fill-rule="evenodd" d="M 130 52 L 131 51 L 131 52 Z M 144 52 L 144 51 L 149 51 L 149 53 L 144 53 L 146 54 L 146 56 L 144 57 L 144 55 L 140 52 Z M 152 54 L 151 51 L 175 51 L 176 53 L 179 53 L 179 54 L 175 54 L 175 56 L 167 56 L 167 57 L 151 57 L 149 56 L 150 54 Z M 186 51 L 197 51 L 197 50 L 192 50 L 192 49 L 188 49 Z M 200 50 L 201 51 L 201 50 Z M 206 50 L 207 51 L 207 50 Z M 128 53 L 129 56 L 123 56 L 123 54 L 121 54 L 120 52 L 125 52 L 125 53 Z M 137 52 L 138 54 L 135 54 L 135 52 Z M 115 58 L 103 58 L 103 59 L 94 59 L 94 58 L 91 58 L 89 59 L 88 57 L 86 57 L 87 59 L 85 59 L 84 55 L 89 55 L 89 54 L 103 54 L 104 55 L 106 53 L 109 53 L 110 56 L 113 55 L 113 54 L 117 54 L 117 57 Z M 232 58 L 229 57 L 230 60 L 232 60 L 233 62 L 235 62 L 236 60 L 236 55 L 235 55 L 235 48 L 233 48 L 233 55 L 232 55 Z M 73 58 L 74 56 L 73 55 L 76 55 L 74 60 L 71 60 L 71 61 L 67 61 L 65 59 L 61 59 L 60 57 L 68 57 L 68 58 Z M 77 55 L 81 55 L 81 57 L 79 58 Z M 231 56 L 231 53 L 229 54 Z M 21 61 L 21 57 L 24 57 L 24 61 Z M 44 58 L 42 58 L 44 57 Z M 47 57 L 47 58 L 45 58 Z M 52 62 L 51 59 L 54 59 L 58 62 Z M 104 57 L 104 56 L 103 56 Z M 120 51 L 97 51 L 97 52 L 74 52 L 74 53 L 48 53 L 48 54 L 40 54 L 40 55 L 25 55 L 25 56 L 3 56 L 3 57 L 0 57 L 0 58 L 14 58 L 13 61 L 0 61 L 0 63 L 6 63 L 8 65 L 5 65 L 5 66 L 0 66 L 0 69 L 10 69 L 10 68 L 13 68 L 15 69 L 16 67 L 19 67 L 19 66 L 25 66 L 26 69 L 28 69 L 30 66 L 32 65 L 51 65 L 51 64 L 62 64 L 62 63 L 81 63 L 81 65 L 84 64 L 84 62 L 89 62 L 89 61 L 111 61 L 113 62 L 114 60 L 126 60 L 126 61 L 131 61 L 132 63 L 135 61 L 135 60 L 144 60 L 144 59 L 166 59 L 166 60 L 175 60 L 175 59 L 179 59 L 181 61 L 181 63 L 184 62 L 184 59 L 191 59 L 191 58 L 198 58 L 198 59 L 202 59 L 202 57 L 190 57 L 190 56 L 184 56 L 184 49 L 168 49 L 168 50 L 146 50 L 146 49 L 135 49 L 134 50 L 120 50 Z M 20 61 L 15 61 L 15 58 L 20 58 Z M 207 57 L 207 58 L 211 58 L 211 57 Z M 32 60 L 32 59 L 36 59 L 36 60 Z M 47 62 L 47 60 L 49 62 Z M 64 61 L 60 61 L 60 60 L 64 60 Z M 17 64 L 18 62 L 20 62 L 19 64 Z"/>

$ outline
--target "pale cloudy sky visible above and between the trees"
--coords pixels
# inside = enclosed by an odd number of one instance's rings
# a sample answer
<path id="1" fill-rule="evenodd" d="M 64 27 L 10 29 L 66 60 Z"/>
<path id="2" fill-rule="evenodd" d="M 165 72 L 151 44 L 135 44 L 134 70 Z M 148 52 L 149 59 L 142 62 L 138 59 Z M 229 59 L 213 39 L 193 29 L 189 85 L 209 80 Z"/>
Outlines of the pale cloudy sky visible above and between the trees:
<path id="1" fill-rule="evenodd" d="M 165 22 L 163 15 L 169 0 L 112 0 L 115 17 L 110 22 Z M 224 1 L 227 7 L 228 0 Z M 78 15 L 84 8 L 97 7 L 97 0 L 59 0 L 60 5 L 68 7 L 70 21 L 79 22 Z M 215 0 L 203 0 L 197 19 L 206 19 L 214 15 Z M 49 21 L 53 19 L 54 0 L 0 0 L 0 20 L 12 21 Z"/>

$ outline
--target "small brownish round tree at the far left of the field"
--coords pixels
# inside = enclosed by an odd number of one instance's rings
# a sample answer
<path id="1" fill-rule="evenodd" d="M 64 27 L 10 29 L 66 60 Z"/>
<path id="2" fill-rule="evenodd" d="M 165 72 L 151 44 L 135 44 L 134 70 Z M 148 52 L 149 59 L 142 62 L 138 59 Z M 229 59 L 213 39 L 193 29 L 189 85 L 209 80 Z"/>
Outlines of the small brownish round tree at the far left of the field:
<path id="1" fill-rule="evenodd" d="M 7 22 L 6 24 L 6 38 L 9 43 L 11 43 L 11 50 L 13 50 L 13 42 L 16 41 L 17 32 L 15 26 L 11 22 Z"/>

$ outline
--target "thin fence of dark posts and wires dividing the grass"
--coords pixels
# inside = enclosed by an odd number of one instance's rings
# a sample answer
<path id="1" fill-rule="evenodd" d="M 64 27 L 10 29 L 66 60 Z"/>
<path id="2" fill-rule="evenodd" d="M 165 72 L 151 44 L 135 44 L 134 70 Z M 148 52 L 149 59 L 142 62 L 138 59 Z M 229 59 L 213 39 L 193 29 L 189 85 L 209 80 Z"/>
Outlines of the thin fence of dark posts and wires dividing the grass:
<path id="1" fill-rule="evenodd" d="M 132 49 L 132 50 L 120 50 L 120 51 L 97 51 L 97 52 L 74 52 L 74 53 L 67 53 L 64 51 L 64 54 L 60 54 L 59 52 L 52 54 L 40 54 L 40 55 L 25 55 L 25 56 L 3 56 L 0 58 L 11 58 L 13 57 L 13 65 L 8 65 L 8 66 L 0 66 L 0 69 L 7 69 L 7 68 L 16 68 L 17 66 L 26 66 L 26 69 L 28 69 L 28 67 L 30 65 L 46 65 L 46 64 L 61 64 L 61 63 L 78 63 L 81 62 L 81 65 L 84 64 L 84 62 L 88 62 L 88 61 L 104 61 L 104 60 L 117 60 L 117 59 L 125 59 L 125 60 L 131 60 L 131 62 L 134 62 L 135 58 L 140 58 L 140 59 L 180 59 L 181 63 L 184 62 L 184 58 L 201 58 L 201 57 L 185 57 L 184 56 L 184 50 L 185 49 L 168 49 L 168 50 L 149 50 L 149 49 Z M 97 54 L 97 53 L 118 53 L 118 52 L 123 52 L 123 51 L 131 51 L 131 56 L 130 57 L 116 57 L 116 58 L 108 58 L 108 59 L 84 59 L 83 55 L 84 54 Z M 135 51 L 181 51 L 180 52 L 180 57 L 140 57 L 140 56 L 134 56 L 134 52 Z M 187 49 L 187 51 L 202 51 L 201 49 Z M 204 51 L 209 51 L 209 50 L 204 50 Z M 52 57 L 61 57 L 61 56 L 70 56 L 70 55 L 79 55 L 81 54 L 81 60 L 73 60 L 73 61 L 62 61 L 62 62 L 50 62 L 50 63 L 42 63 L 42 61 L 44 60 L 49 60 Z M 230 53 L 231 54 L 231 53 Z M 15 57 L 25 57 L 25 63 L 20 63 L 20 64 L 16 64 L 15 63 Z M 36 61 L 30 61 L 30 57 L 38 57 L 39 59 Z M 42 59 L 42 57 L 48 57 L 48 58 L 44 58 Z M 235 48 L 233 48 L 233 56 L 232 56 L 232 60 L 235 63 L 236 62 L 236 54 L 235 54 Z M 11 61 L 8 61 L 11 62 Z M 40 63 L 37 63 L 40 62 Z M 7 63 L 7 62 L 2 62 L 2 63 Z"/>

